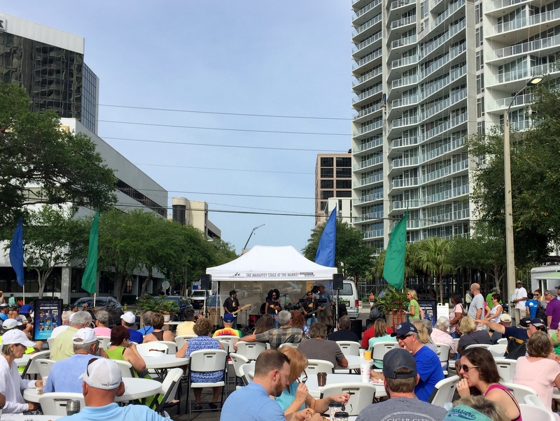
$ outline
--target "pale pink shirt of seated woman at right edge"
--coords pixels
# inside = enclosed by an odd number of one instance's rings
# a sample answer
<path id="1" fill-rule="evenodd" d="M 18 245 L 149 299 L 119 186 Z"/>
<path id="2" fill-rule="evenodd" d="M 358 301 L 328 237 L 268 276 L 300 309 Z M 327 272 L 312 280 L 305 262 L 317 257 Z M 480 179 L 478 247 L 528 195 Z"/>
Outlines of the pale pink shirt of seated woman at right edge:
<path id="1" fill-rule="evenodd" d="M 519 357 L 515 366 L 513 383 L 532 387 L 540 400 L 552 411 L 552 389 L 554 380 L 560 374 L 560 365 L 553 359 L 540 358 L 529 361 L 527 357 Z M 556 419 L 560 417 L 556 415 Z"/>

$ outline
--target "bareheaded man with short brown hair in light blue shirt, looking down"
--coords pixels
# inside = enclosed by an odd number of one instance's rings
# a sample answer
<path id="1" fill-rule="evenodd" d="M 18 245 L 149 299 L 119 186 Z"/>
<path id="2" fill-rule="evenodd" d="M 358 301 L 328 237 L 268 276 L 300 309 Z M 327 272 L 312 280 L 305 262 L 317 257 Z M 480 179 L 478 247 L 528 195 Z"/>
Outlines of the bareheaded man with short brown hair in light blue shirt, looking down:
<path id="1" fill-rule="evenodd" d="M 290 359 L 286 355 L 277 350 L 261 352 L 255 362 L 253 381 L 225 400 L 220 421 L 233 418 L 248 421 L 323 420 L 321 414 L 314 413 L 311 408 L 285 416 L 278 402 L 270 399 L 270 396 L 282 394 L 289 377 Z"/>

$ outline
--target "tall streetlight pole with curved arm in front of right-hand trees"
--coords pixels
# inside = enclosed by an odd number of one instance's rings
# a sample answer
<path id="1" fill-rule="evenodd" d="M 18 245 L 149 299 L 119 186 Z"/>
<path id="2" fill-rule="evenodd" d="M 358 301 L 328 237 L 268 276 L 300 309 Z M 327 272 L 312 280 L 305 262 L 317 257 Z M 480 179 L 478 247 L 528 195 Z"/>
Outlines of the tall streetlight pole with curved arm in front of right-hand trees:
<path id="1" fill-rule="evenodd" d="M 517 95 L 521 94 L 529 86 L 538 85 L 542 82 L 542 76 L 534 76 L 515 94 L 507 107 L 503 118 L 503 174 L 505 187 L 505 264 L 507 267 L 507 293 L 515 290 L 515 253 L 513 250 L 513 209 L 512 209 L 512 168 L 510 152 L 510 109 Z"/>

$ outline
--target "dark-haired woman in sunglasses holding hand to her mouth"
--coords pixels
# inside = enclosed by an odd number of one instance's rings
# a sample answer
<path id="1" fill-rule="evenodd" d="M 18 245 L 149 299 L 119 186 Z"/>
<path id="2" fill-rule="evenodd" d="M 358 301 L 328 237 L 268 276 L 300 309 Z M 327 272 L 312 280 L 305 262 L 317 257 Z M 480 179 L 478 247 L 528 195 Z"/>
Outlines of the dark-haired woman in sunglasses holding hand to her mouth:
<path id="1" fill-rule="evenodd" d="M 521 421 L 519 404 L 507 387 L 500 385 L 498 367 L 489 350 L 471 348 L 461 354 L 461 363 L 457 364 L 461 376 L 456 389 L 461 397 L 469 396 L 471 390 L 482 394 L 486 399 L 495 401 L 504 408 L 507 418 Z"/>

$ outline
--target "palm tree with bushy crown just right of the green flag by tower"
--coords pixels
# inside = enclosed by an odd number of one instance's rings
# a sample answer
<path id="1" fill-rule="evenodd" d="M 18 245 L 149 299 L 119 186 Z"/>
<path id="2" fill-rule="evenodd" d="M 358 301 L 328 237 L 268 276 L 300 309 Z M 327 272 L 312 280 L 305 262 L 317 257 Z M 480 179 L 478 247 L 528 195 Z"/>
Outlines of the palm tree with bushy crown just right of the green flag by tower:
<path id="1" fill-rule="evenodd" d="M 423 271 L 437 276 L 440 284 L 440 297 L 438 302 L 443 302 L 442 278 L 453 271 L 453 265 L 449 262 L 451 243 L 438 237 L 429 237 L 418 245 L 419 264 Z"/>

